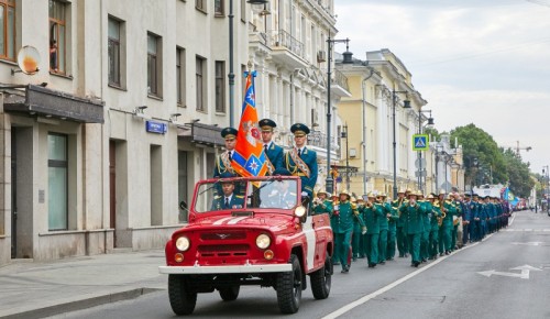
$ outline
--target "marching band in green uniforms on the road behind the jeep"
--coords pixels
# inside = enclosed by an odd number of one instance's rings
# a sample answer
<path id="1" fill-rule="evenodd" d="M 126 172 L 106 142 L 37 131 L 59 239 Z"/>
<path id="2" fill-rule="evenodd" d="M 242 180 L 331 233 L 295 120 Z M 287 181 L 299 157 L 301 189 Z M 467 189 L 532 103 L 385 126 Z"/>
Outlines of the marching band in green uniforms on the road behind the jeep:
<path id="1" fill-rule="evenodd" d="M 399 190 L 391 200 L 385 194 L 355 198 L 348 190 L 333 195 L 321 190 L 314 213 L 328 213 L 334 233 L 332 263 L 350 271 L 351 262 L 366 258 L 374 268 L 410 255 L 418 267 L 428 260 L 449 255 L 470 242 L 508 226 L 512 210 L 505 200 L 477 194 L 429 194 Z M 351 253 L 351 255 L 349 255 Z"/>

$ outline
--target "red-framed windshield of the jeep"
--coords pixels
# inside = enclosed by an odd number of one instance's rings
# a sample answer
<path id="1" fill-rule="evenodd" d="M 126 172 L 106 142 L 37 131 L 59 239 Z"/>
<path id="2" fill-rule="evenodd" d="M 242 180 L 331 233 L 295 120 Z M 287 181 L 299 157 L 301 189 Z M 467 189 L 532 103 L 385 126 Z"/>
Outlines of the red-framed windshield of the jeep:
<path id="1" fill-rule="evenodd" d="M 201 183 L 197 189 L 198 213 L 235 209 L 294 209 L 298 205 L 298 183 L 286 178 L 226 178 Z"/>

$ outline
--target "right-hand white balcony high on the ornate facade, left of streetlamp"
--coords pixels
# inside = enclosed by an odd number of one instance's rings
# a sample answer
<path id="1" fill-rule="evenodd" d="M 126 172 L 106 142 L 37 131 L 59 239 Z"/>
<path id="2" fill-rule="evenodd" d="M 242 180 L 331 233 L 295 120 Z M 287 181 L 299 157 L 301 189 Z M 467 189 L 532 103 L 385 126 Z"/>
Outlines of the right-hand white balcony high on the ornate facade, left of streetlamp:
<path id="1" fill-rule="evenodd" d="M 305 58 L 304 43 L 290 35 L 290 33 L 278 30 L 270 33 L 270 46 L 272 57 L 276 63 L 290 69 L 302 68 L 308 65 Z"/>

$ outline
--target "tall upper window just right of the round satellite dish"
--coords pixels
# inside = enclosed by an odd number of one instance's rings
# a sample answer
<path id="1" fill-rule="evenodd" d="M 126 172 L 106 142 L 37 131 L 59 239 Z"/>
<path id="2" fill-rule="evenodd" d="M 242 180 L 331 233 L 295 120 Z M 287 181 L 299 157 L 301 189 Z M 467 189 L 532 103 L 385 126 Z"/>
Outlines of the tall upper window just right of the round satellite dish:
<path id="1" fill-rule="evenodd" d="M 67 3 L 50 0 L 50 70 L 67 72 Z"/>

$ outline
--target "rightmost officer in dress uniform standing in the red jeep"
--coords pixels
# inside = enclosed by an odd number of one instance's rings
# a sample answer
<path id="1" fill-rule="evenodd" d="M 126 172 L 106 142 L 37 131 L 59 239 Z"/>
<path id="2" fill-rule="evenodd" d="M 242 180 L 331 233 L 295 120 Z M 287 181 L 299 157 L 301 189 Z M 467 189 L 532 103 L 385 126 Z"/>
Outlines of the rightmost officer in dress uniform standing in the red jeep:
<path id="1" fill-rule="evenodd" d="M 317 183 L 317 153 L 306 147 L 309 128 L 296 123 L 290 127 L 295 147 L 285 153 L 285 168 L 294 176 L 301 178 L 301 196 L 312 198 Z"/>

